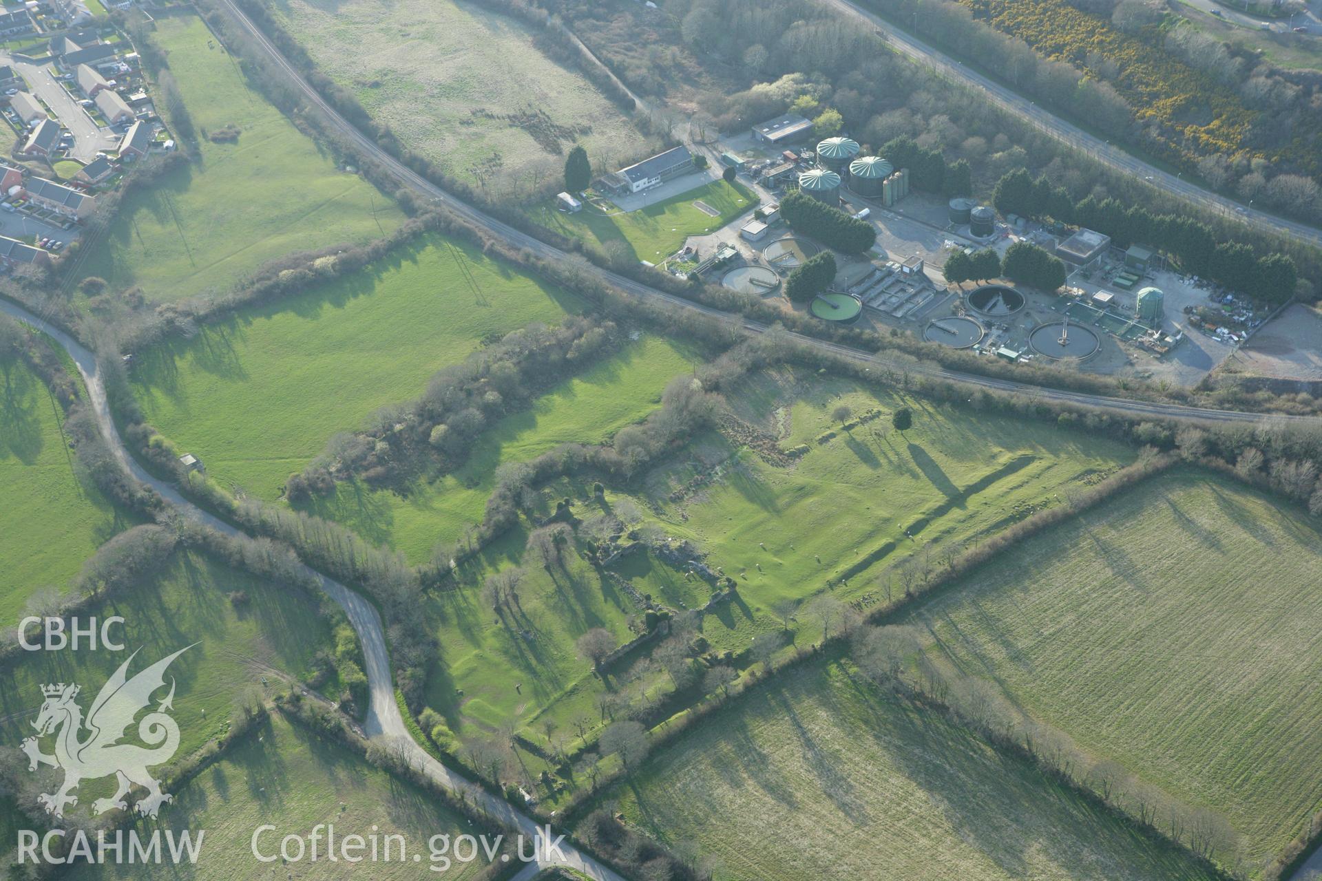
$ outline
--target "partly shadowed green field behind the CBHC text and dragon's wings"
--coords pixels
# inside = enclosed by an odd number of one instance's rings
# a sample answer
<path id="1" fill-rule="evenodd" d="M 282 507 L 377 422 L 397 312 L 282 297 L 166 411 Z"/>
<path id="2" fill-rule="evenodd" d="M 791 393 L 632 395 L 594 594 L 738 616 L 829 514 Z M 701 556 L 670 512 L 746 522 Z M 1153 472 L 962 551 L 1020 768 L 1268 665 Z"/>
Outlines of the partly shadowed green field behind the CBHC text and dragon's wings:
<path id="1" fill-rule="evenodd" d="M 231 592 L 246 593 L 247 604 L 235 606 L 229 600 Z M 135 672 L 200 643 L 169 668 L 178 683 L 173 717 L 180 750 L 192 752 L 223 732 L 235 707 L 264 692 L 263 676 L 272 679 L 272 686 L 280 684 L 282 674 L 304 678 L 312 656 L 332 647 L 329 622 L 305 593 L 192 552 L 176 552 L 163 575 L 86 614 L 123 616 L 126 621 L 112 637 L 126 650 L 21 652 L 7 663 L 0 668 L 0 732 L 5 742 L 19 744 L 32 733 L 28 722 L 41 705 L 40 686 L 82 684 L 86 711 L 97 689 L 132 651 L 141 649 L 131 666 Z"/>

